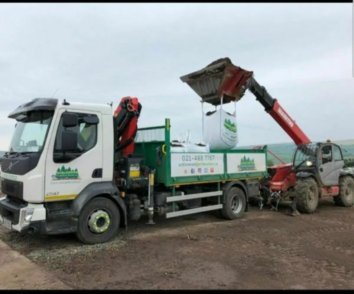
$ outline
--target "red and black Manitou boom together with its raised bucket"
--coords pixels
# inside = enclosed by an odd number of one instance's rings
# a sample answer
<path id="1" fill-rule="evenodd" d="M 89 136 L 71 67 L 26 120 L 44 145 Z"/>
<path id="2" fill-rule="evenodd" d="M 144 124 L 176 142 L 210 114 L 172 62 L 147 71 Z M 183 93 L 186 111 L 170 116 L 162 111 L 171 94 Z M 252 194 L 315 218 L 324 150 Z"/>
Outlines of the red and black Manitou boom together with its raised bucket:
<path id="1" fill-rule="evenodd" d="M 202 102 L 215 106 L 239 101 L 249 89 L 296 145 L 311 142 L 279 102 L 267 92 L 265 87 L 259 85 L 253 77 L 253 72 L 235 66 L 229 58 L 221 58 L 180 79 L 202 98 Z"/>

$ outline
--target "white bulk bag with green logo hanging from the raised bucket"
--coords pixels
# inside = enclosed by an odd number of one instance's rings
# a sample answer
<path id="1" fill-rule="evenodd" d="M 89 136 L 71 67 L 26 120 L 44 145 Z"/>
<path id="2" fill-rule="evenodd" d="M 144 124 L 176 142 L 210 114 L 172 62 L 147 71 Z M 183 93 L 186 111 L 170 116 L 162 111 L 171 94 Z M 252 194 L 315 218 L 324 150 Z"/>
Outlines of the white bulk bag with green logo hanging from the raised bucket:
<path id="1" fill-rule="evenodd" d="M 227 150 L 237 145 L 236 103 L 233 114 L 224 111 L 221 104 L 218 110 L 208 113 L 203 111 L 202 115 L 203 139 L 209 143 L 211 150 Z"/>

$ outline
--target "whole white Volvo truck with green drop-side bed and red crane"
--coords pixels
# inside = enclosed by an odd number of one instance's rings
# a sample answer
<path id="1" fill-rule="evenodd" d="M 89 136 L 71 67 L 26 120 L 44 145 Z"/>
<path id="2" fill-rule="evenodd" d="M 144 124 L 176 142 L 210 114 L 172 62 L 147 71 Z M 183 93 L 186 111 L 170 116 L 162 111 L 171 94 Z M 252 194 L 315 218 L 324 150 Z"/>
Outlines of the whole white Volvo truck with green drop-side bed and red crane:
<path id="1" fill-rule="evenodd" d="M 16 108 L 8 115 L 17 123 L 1 161 L 3 225 L 30 234 L 76 233 L 94 244 L 142 213 L 149 224 L 154 213 L 219 210 L 225 219 L 242 217 L 267 176 L 266 149 L 173 153 L 170 120 L 138 131 L 140 111 L 131 97 L 122 98 L 114 115 L 111 105 L 53 98 Z M 245 158 L 252 169 L 236 169 Z"/>

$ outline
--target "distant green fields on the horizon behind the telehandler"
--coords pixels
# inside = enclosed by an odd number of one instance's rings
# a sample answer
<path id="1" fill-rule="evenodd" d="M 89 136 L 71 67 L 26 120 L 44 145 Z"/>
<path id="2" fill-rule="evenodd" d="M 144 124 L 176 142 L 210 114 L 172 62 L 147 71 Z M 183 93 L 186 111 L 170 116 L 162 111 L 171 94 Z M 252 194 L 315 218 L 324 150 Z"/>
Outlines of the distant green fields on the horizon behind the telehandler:
<path id="1" fill-rule="evenodd" d="M 333 141 L 335 142 L 335 141 Z M 335 142 L 342 148 L 343 157 L 349 158 L 354 157 L 354 142 L 353 140 L 337 141 Z M 351 143 L 351 144 L 348 144 Z M 276 156 L 284 160 L 286 163 L 291 162 L 292 154 L 295 150 L 294 143 L 280 143 L 280 144 L 268 144 L 268 149 L 272 151 Z M 242 146 L 235 149 L 253 148 L 254 146 Z M 279 160 L 275 159 L 272 155 L 268 155 L 268 159 L 272 160 L 274 164 L 280 163 Z"/>

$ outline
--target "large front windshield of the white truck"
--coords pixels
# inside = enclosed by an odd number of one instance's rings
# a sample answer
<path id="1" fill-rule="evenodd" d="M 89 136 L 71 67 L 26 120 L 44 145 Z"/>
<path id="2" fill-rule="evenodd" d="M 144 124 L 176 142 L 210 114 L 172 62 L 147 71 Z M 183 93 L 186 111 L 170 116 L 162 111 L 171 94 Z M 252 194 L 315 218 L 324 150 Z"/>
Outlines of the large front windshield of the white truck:
<path id="1" fill-rule="evenodd" d="M 27 116 L 27 119 L 16 123 L 15 132 L 10 142 L 10 152 L 42 151 L 53 112 L 33 111 Z"/>

